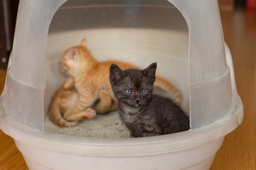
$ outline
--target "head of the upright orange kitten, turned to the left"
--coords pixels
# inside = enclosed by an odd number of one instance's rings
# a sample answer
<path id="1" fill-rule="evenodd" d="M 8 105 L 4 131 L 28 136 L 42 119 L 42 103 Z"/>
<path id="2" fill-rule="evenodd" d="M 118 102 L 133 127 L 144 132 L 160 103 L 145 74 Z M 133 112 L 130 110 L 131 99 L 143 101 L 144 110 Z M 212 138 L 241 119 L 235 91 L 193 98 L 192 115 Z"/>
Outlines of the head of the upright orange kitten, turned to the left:
<path id="1" fill-rule="evenodd" d="M 75 76 L 93 64 L 95 59 L 87 49 L 86 39 L 83 39 L 79 46 L 71 47 L 63 53 L 61 62 L 61 69 L 67 74 Z"/>

